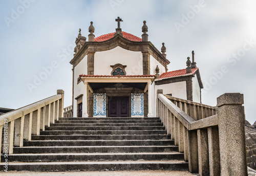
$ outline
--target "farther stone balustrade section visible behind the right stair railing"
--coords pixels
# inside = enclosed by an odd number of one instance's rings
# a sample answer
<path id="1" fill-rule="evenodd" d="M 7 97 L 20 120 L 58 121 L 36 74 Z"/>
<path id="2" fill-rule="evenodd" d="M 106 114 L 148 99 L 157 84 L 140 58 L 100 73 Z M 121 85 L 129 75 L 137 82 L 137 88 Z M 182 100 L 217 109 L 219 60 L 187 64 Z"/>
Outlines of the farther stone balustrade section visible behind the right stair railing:
<path id="1" fill-rule="evenodd" d="M 172 97 L 165 95 L 170 101 L 182 109 L 187 115 L 192 117 L 194 120 L 204 119 L 212 115 L 218 114 L 218 107 L 209 106 L 181 98 Z"/>

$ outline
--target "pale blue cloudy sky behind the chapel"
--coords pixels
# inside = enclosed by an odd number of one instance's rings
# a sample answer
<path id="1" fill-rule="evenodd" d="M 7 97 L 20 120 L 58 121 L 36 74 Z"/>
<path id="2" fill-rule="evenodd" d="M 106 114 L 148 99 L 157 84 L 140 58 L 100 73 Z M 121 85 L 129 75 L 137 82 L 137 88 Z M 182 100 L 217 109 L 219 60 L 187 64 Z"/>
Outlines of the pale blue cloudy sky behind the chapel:
<path id="1" fill-rule="evenodd" d="M 122 31 L 165 43 L 168 71 L 186 68 L 195 51 L 202 103 L 216 106 L 224 93 L 244 94 L 245 117 L 256 121 L 256 2 L 253 0 L 20 0 L 0 2 L 0 107 L 19 108 L 65 91 L 72 104 L 75 38 Z"/>

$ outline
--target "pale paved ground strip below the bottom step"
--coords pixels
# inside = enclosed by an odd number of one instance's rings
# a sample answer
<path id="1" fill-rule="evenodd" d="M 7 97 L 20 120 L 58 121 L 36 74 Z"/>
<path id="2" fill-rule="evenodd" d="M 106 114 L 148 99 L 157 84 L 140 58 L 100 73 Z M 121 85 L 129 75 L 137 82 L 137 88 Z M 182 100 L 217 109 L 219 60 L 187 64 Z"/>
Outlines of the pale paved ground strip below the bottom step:
<path id="1" fill-rule="evenodd" d="M 76 172 L 28 172 L 28 171 L 8 171 L 0 172 L 0 175 L 12 176 L 195 176 L 188 171 L 169 170 L 140 170 L 140 171 L 76 171 Z"/>

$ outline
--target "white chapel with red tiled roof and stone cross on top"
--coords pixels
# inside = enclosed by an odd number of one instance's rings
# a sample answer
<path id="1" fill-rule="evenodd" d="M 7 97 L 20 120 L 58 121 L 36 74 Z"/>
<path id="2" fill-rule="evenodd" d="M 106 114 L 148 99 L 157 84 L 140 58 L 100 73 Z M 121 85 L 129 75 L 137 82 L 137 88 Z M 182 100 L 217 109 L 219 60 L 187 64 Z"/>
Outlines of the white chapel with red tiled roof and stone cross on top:
<path id="1" fill-rule="evenodd" d="M 88 40 L 76 38 L 73 65 L 73 117 L 156 117 L 157 90 L 201 103 L 203 84 L 194 51 L 187 67 L 169 71 L 162 43 L 159 51 L 148 41 L 143 21 L 141 38 L 122 31 L 95 37 L 93 22 Z"/>

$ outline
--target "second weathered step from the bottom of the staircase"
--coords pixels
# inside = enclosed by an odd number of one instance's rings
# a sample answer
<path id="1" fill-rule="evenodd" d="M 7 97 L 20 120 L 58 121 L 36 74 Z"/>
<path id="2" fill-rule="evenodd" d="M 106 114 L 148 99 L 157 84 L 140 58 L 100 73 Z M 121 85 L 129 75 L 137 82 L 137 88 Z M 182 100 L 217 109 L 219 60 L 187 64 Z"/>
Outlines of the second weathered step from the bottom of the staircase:
<path id="1" fill-rule="evenodd" d="M 5 158 L 2 155 L 2 160 Z M 28 153 L 12 154 L 9 161 L 16 162 L 50 162 L 50 161 L 138 161 L 138 160 L 184 160 L 179 152 L 152 153 Z"/>

